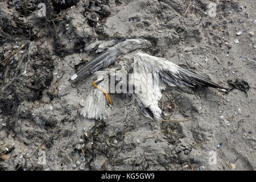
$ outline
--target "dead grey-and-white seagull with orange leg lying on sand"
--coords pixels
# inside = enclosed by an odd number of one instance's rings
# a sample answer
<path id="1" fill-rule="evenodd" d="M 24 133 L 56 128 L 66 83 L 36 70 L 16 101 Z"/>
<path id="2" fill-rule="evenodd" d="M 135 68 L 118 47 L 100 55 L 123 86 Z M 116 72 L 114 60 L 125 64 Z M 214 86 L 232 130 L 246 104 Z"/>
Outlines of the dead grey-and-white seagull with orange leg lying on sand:
<path id="1" fill-rule="evenodd" d="M 138 49 L 150 46 L 151 43 L 144 39 L 126 39 L 123 42 L 101 40 L 89 44 L 86 51 L 96 50 L 102 52 L 101 55 L 69 79 L 71 82 L 82 81 L 92 73 L 97 77 L 85 99 L 81 115 L 89 119 L 105 119 L 108 117 L 107 107 L 113 104 L 109 93 L 132 93 L 139 111 L 145 117 L 157 120 L 161 118 L 162 113 L 158 101 L 162 98 L 161 92 L 167 85 L 210 86 L 226 90 L 223 86 L 183 69 L 167 59 L 138 52 Z M 117 67 L 107 68 L 129 52 L 131 61 L 122 60 Z M 107 69 L 98 71 L 101 68 Z"/>

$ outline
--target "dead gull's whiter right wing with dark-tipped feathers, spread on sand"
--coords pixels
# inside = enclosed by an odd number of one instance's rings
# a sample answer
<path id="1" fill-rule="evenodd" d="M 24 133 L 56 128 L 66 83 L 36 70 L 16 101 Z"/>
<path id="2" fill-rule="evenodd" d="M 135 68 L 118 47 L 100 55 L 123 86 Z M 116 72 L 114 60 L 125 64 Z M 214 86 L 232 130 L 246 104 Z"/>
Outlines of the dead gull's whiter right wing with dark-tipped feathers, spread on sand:
<path id="1" fill-rule="evenodd" d="M 133 84 L 135 88 L 141 88 L 142 92 L 135 92 L 138 109 L 146 117 L 160 118 L 161 110 L 158 101 L 162 97 L 161 91 L 170 86 L 211 86 L 225 89 L 195 73 L 177 66 L 167 59 L 150 56 L 146 53 L 137 53 L 134 56 Z M 159 76 L 159 80 L 158 80 Z M 146 79 L 147 78 L 147 79 Z"/>

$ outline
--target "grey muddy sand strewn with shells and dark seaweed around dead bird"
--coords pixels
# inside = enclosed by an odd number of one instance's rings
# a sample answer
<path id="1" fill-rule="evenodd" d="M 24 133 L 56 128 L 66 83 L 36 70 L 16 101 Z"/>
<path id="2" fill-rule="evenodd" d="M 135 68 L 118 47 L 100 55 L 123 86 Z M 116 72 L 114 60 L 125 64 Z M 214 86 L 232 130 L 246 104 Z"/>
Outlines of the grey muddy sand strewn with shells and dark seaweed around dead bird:
<path id="1" fill-rule="evenodd" d="M 200 0 L 0 1 L 0 169 L 255 170 L 255 1 L 214 2 L 215 17 Z M 169 87 L 159 102 L 168 121 L 110 94 L 108 119 L 83 118 L 94 76 L 77 88 L 68 79 L 97 56 L 84 51 L 90 41 L 111 38 L 150 40 L 150 55 L 250 89 Z"/>

